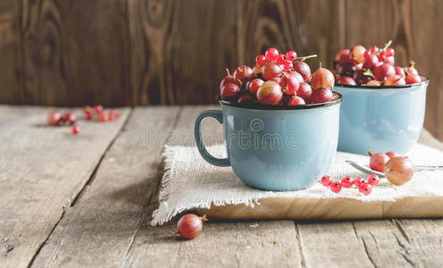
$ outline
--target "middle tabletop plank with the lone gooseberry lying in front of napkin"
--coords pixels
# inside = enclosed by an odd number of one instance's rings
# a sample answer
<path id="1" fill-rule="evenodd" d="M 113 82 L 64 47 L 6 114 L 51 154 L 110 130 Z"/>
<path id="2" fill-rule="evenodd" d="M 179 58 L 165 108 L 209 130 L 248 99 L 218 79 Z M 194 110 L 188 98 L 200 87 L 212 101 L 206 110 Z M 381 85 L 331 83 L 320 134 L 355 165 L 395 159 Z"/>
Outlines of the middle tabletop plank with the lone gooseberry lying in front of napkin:
<path id="1" fill-rule="evenodd" d="M 191 146 L 193 120 L 207 108 L 185 107 L 175 122 L 176 111 L 170 108 L 136 108 L 97 177 L 66 211 L 34 265 L 300 266 L 292 221 L 207 222 L 200 237 L 192 241 L 173 236 L 175 222 L 149 226 L 158 206 L 163 144 L 167 138 L 168 144 Z M 147 129 L 153 131 L 149 140 L 157 140 L 156 147 L 137 147 L 134 140 L 140 135 L 145 138 Z M 205 121 L 203 133 L 209 142 L 223 139 L 216 121 Z M 143 138 L 141 144 L 146 143 Z"/>

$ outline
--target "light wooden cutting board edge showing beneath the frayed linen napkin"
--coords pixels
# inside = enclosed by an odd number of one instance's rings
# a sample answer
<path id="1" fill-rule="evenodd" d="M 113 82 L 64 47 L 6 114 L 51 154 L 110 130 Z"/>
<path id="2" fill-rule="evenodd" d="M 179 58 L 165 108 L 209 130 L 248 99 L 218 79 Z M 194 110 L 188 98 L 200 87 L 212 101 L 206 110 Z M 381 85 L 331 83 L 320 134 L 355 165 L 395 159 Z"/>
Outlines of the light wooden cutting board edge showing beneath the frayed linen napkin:
<path id="1" fill-rule="evenodd" d="M 211 219 L 379 219 L 443 217 L 443 197 L 405 197 L 395 202 L 362 202 L 349 198 L 281 198 L 260 200 L 260 205 L 212 205 L 200 209 Z"/>

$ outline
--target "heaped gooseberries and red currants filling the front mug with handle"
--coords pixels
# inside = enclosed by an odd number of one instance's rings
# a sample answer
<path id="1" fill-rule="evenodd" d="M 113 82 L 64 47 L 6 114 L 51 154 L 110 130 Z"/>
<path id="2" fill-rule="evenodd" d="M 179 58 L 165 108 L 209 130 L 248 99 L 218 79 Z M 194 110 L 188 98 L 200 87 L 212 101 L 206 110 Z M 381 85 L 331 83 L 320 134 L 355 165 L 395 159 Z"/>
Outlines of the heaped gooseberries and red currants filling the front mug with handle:
<path id="1" fill-rule="evenodd" d="M 242 65 L 220 83 L 221 99 L 239 105 L 306 105 L 325 103 L 337 96 L 332 92 L 334 75 L 320 67 L 311 75 L 304 60 L 294 51 L 279 54 L 274 47 L 257 56 L 253 68 Z"/>

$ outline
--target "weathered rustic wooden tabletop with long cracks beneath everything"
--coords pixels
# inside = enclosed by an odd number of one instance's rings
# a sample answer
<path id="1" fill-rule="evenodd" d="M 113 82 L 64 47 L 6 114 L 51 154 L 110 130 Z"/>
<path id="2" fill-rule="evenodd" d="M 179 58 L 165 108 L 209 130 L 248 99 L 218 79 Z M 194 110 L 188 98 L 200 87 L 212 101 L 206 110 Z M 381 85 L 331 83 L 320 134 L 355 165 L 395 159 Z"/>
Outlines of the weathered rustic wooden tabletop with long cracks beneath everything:
<path id="1" fill-rule="evenodd" d="M 194 240 L 150 227 L 163 146 L 192 146 L 208 108 L 123 108 L 75 136 L 46 126 L 51 108 L 0 106 L 0 266 L 443 266 L 443 219 L 207 222 Z M 221 131 L 204 122 L 211 142 Z M 427 131 L 421 142 L 443 148 Z"/>

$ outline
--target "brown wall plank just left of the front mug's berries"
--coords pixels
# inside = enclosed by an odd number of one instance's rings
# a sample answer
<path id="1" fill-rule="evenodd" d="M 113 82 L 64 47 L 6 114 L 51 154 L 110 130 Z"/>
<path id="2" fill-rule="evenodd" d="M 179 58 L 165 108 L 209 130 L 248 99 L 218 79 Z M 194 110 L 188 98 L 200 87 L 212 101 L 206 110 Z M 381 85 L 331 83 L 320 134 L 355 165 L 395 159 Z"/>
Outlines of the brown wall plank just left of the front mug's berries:
<path id="1" fill-rule="evenodd" d="M 219 81 L 232 67 L 233 6 L 217 0 L 128 1 L 132 103 L 215 103 Z"/>

